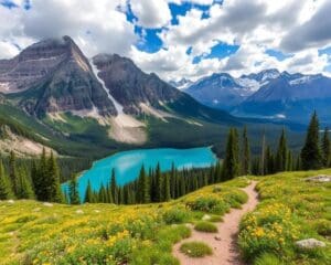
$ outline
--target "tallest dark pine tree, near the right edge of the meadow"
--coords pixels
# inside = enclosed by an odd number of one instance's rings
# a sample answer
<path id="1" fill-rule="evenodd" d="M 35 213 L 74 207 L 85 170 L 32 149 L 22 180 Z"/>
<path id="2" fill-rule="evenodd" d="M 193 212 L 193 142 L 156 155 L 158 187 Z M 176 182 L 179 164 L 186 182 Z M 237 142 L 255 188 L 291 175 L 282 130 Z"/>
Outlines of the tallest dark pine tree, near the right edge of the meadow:
<path id="1" fill-rule="evenodd" d="M 301 166 L 303 170 L 320 169 L 322 156 L 319 145 L 319 120 L 314 112 L 307 131 L 306 142 L 301 150 Z"/>

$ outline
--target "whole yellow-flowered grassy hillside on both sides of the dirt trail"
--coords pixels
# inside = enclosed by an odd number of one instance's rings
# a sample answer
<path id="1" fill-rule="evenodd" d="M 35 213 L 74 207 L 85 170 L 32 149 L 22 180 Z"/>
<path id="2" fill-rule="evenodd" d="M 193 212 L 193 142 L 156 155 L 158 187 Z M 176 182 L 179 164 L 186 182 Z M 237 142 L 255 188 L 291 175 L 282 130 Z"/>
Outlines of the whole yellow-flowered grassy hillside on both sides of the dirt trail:
<path id="1" fill-rule="evenodd" d="M 330 264 L 330 182 L 302 179 L 321 173 L 331 174 L 331 170 L 236 178 L 161 204 L 71 206 L 3 201 L 0 259 L 2 264 L 178 264 L 171 256 L 172 245 L 191 235 L 183 224 L 196 224 L 206 214 L 220 223 L 229 208 L 246 202 L 239 188 L 255 179 L 260 202 L 241 223 L 238 243 L 244 258 L 256 265 Z M 310 237 L 327 246 L 310 251 L 295 246 Z"/>

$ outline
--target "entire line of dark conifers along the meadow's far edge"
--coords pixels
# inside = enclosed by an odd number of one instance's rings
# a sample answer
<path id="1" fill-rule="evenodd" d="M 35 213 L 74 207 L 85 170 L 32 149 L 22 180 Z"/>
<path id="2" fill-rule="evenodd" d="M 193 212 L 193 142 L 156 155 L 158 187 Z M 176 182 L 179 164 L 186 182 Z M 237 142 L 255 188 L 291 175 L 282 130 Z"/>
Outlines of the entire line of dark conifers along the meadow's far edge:
<path id="1" fill-rule="evenodd" d="M 305 145 L 297 156 L 288 147 L 286 130 L 282 129 L 278 147 L 273 150 L 267 144 L 265 134 L 261 138 L 260 155 L 253 157 L 247 128 L 239 134 L 231 128 L 227 136 L 223 162 L 205 169 L 175 169 L 174 165 L 168 172 L 161 172 L 158 163 L 154 169 L 146 169 L 142 165 L 137 180 L 125 186 L 116 182 L 115 170 L 111 171 L 109 183 L 103 183 L 95 191 L 88 182 L 83 202 L 135 204 L 163 202 L 185 195 L 204 186 L 213 184 L 247 174 L 270 174 L 281 171 L 321 169 L 331 166 L 331 148 L 329 129 L 320 137 L 318 116 L 311 117 Z M 79 204 L 77 177 L 72 174 L 67 192 L 63 193 L 60 186 L 60 172 L 56 158 L 45 150 L 39 160 L 33 160 L 30 173 L 26 167 L 18 167 L 13 152 L 9 158 L 8 170 L 0 161 L 0 200 L 36 199 L 40 201 Z"/>

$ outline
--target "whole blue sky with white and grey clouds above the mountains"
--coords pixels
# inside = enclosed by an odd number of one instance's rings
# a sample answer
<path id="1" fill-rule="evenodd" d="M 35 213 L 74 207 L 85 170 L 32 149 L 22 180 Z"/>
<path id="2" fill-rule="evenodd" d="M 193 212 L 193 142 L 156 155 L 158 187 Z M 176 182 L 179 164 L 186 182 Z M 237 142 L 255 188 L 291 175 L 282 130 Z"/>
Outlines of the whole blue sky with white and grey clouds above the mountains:
<path id="1" fill-rule="evenodd" d="M 328 13 L 328 0 L 0 0 L 0 56 L 67 34 L 87 56 L 118 53 L 166 80 L 331 75 Z"/>

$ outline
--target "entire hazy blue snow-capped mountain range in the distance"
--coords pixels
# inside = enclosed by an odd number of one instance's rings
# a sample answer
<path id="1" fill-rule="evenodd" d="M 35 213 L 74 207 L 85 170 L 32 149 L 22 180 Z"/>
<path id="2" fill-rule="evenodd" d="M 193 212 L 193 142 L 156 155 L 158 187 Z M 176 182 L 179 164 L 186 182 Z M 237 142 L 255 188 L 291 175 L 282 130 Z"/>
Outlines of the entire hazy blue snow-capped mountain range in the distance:
<path id="1" fill-rule="evenodd" d="M 203 77 L 184 89 L 196 100 L 235 116 L 307 123 L 317 110 L 331 124 L 331 78 L 266 70 L 235 78 L 226 73 Z"/>

